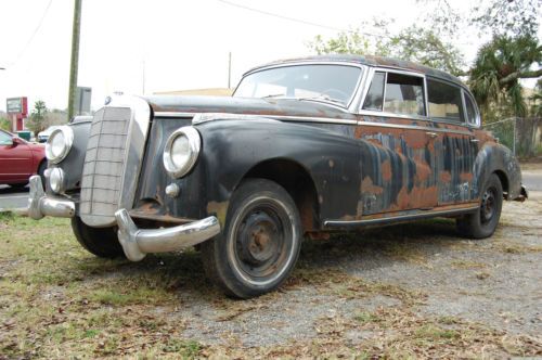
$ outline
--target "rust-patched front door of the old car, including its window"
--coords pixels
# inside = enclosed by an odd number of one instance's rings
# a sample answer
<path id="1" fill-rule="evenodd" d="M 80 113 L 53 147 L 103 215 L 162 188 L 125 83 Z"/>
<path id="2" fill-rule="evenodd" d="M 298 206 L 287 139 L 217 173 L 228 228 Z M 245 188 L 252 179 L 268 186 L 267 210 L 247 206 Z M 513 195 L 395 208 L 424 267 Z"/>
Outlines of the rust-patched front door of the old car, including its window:
<path id="1" fill-rule="evenodd" d="M 373 70 L 357 129 L 363 215 L 437 206 L 435 149 L 441 134 L 426 113 L 424 75 Z"/>

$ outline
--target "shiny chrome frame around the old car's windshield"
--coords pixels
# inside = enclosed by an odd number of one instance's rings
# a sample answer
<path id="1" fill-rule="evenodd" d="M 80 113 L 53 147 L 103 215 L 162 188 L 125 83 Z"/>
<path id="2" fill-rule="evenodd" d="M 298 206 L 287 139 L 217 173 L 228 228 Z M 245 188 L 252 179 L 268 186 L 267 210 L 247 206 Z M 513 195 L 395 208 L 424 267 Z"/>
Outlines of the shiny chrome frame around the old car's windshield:
<path id="1" fill-rule="evenodd" d="M 358 81 L 356 82 L 356 86 L 353 87 L 352 95 L 350 97 L 348 104 L 346 104 L 345 106 L 341 106 L 339 104 L 334 104 L 331 102 L 315 101 L 314 100 L 314 102 L 318 102 L 320 104 L 325 104 L 325 105 L 330 105 L 330 106 L 337 107 L 340 110 L 346 110 L 350 113 L 354 113 L 352 107 L 359 101 L 359 93 L 360 93 L 360 90 L 363 88 L 362 85 L 364 85 L 364 80 L 365 80 L 365 76 L 366 76 L 366 72 L 367 72 L 367 66 L 360 64 L 360 63 L 357 63 L 357 62 L 349 62 L 349 61 L 325 61 L 325 62 L 324 61 L 295 61 L 295 62 L 289 62 L 289 63 L 282 63 L 282 64 L 274 64 L 274 65 L 258 67 L 258 68 L 253 69 L 250 72 L 247 72 L 243 75 L 243 77 L 238 81 L 237 86 L 235 87 L 235 90 L 233 90 L 232 98 L 235 98 L 235 93 L 237 92 L 237 89 L 238 89 L 241 82 L 243 81 L 243 79 L 245 79 L 245 77 L 247 77 L 249 75 L 264 72 L 264 70 L 269 70 L 269 69 L 280 68 L 280 67 L 310 66 L 310 65 L 350 66 L 350 67 L 357 67 L 360 69 L 360 76 L 358 77 Z M 242 98 L 242 97 L 237 97 L 237 98 Z M 262 98 L 249 98 L 249 99 L 262 99 Z M 278 98 L 278 99 L 280 99 L 280 98 Z M 295 98 L 288 98 L 288 99 L 295 99 Z M 307 100 L 307 101 L 309 101 L 309 100 Z"/>

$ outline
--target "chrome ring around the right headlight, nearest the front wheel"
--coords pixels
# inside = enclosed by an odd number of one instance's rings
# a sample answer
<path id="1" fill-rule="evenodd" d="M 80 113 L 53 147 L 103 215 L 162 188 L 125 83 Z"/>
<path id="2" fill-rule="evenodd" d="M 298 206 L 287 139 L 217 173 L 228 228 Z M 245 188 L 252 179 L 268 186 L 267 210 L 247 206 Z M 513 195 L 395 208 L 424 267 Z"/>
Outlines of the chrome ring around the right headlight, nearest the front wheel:
<path id="1" fill-rule="evenodd" d="M 181 137 L 185 137 L 188 140 L 189 153 L 184 164 L 179 166 L 176 165 L 173 162 L 172 156 L 175 154 L 172 153 L 172 147 L 175 141 L 177 141 Z M 191 126 L 185 126 L 173 131 L 166 141 L 166 146 L 164 147 L 164 154 L 163 154 L 164 167 L 166 168 L 166 171 L 169 173 L 169 176 L 178 179 L 189 173 L 197 162 L 201 149 L 202 149 L 202 138 L 199 136 L 199 132 L 197 132 L 195 128 Z"/>

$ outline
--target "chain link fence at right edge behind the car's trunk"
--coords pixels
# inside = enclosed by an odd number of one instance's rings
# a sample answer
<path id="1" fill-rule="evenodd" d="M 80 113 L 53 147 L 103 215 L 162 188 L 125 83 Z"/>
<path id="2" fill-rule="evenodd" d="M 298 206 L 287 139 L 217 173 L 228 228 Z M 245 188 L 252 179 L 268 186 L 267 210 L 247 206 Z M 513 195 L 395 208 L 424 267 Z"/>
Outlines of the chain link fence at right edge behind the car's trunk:
<path id="1" fill-rule="evenodd" d="M 518 157 L 542 155 L 542 118 L 511 117 L 483 125 Z"/>

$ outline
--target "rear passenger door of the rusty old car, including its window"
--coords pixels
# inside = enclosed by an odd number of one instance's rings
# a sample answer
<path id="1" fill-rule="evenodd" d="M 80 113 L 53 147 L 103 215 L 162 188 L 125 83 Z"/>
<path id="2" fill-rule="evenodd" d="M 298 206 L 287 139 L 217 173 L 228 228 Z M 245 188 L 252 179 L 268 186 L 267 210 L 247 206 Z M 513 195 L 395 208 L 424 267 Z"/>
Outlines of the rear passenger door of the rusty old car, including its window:
<path id="1" fill-rule="evenodd" d="M 437 158 L 438 203 L 444 206 L 470 202 L 475 196 L 473 170 L 478 144 L 467 124 L 464 90 L 455 83 L 428 77 L 427 95 L 431 120 L 446 131 L 442 152 Z"/>

